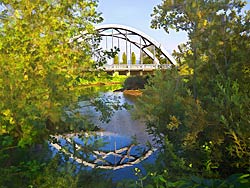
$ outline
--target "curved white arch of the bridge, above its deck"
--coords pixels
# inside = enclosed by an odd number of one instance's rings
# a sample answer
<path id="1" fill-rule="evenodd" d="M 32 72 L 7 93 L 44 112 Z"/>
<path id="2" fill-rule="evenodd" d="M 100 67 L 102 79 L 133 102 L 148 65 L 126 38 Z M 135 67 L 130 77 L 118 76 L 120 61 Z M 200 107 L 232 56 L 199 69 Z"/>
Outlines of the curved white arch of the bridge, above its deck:
<path id="1" fill-rule="evenodd" d="M 143 51 L 147 54 L 152 60 L 154 60 L 154 64 L 158 65 L 159 60 L 155 56 L 155 49 L 158 49 L 161 54 L 167 58 L 167 60 L 172 64 L 176 65 L 175 59 L 167 52 L 167 50 L 156 40 L 146 35 L 145 33 L 125 25 L 119 24 L 104 24 L 95 27 L 95 30 L 98 32 L 100 36 L 112 37 L 112 47 L 113 47 L 113 38 L 123 39 L 126 41 L 126 50 L 127 50 L 127 42 L 135 45 L 140 51 Z M 110 31 L 111 32 L 107 32 Z M 130 36 L 139 36 L 140 40 L 134 40 Z M 147 48 L 153 46 L 154 52 L 150 52 Z M 126 54 L 128 54 L 126 52 Z"/>

